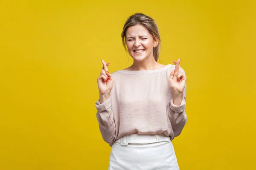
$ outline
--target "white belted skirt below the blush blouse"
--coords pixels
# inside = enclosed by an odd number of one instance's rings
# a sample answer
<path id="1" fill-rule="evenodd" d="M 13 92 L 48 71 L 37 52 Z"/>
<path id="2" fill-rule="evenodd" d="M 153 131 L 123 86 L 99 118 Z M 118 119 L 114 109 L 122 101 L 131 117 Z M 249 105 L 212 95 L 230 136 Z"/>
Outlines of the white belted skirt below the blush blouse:
<path id="1" fill-rule="evenodd" d="M 130 134 L 113 144 L 108 170 L 179 170 L 179 166 L 169 137 Z"/>

